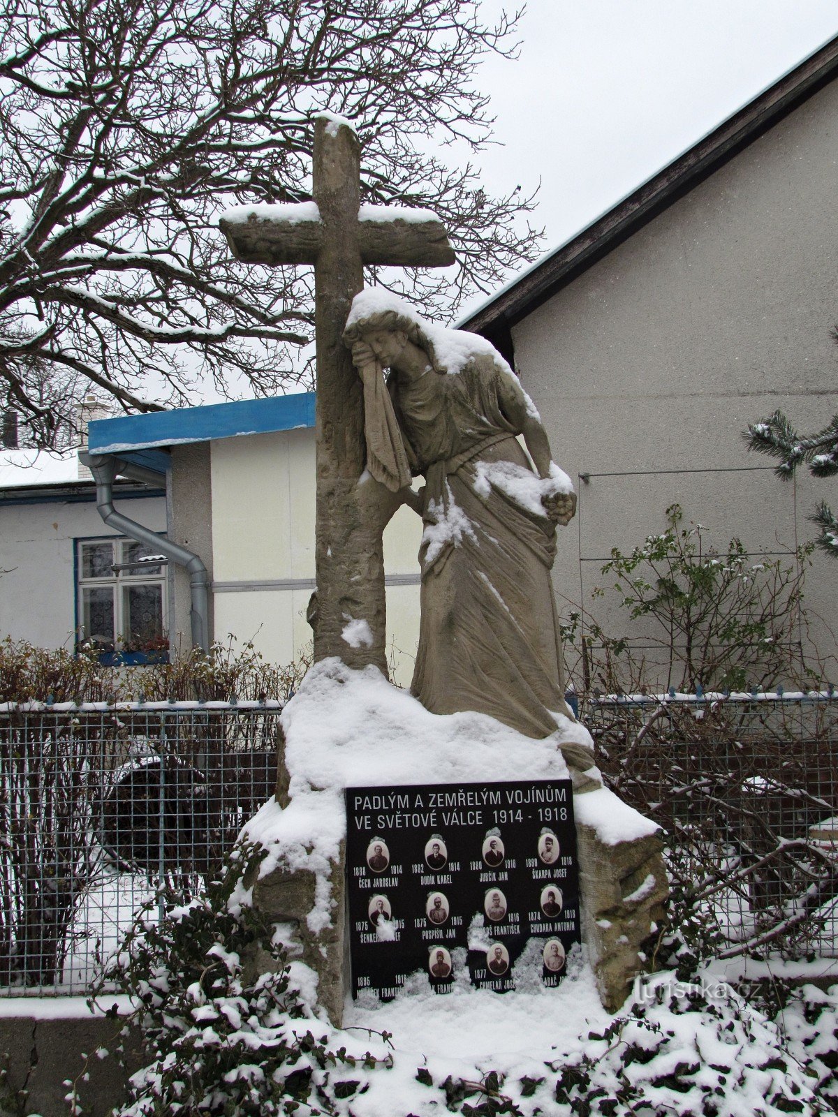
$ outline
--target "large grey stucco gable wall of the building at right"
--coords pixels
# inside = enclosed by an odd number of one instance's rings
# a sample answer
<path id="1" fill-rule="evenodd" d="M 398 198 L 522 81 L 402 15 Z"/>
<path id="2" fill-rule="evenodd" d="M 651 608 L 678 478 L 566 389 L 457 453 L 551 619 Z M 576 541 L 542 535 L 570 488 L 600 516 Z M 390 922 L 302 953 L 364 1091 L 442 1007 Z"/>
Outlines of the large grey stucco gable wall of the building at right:
<path id="1" fill-rule="evenodd" d="M 777 408 L 804 431 L 838 410 L 837 140 L 834 82 L 514 328 L 556 460 L 618 475 L 578 484 L 560 600 L 590 608 L 610 548 L 660 531 L 676 500 L 717 544 L 773 553 L 812 536 L 816 499 L 838 505 L 834 481 L 783 486 L 740 437 Z M 837 576 L 826 556 L 808 576 L 826 652 Z"/>

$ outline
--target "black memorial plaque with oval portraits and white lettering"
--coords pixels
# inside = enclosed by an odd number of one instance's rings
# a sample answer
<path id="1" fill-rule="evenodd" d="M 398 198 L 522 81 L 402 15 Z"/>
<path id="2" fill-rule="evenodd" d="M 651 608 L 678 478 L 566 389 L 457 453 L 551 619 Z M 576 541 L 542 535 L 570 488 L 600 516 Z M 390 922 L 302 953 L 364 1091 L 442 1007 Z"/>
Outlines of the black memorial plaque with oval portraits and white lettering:
<path id="1" fill-rule="evenodd" d="M 418 970 L 448 992 L 457 948 L 477 986 L 513 989 L 527 944 L 561 981 L 580 941 L 570 780 L 347 787 L 346 822 L 353 996 Z"/>

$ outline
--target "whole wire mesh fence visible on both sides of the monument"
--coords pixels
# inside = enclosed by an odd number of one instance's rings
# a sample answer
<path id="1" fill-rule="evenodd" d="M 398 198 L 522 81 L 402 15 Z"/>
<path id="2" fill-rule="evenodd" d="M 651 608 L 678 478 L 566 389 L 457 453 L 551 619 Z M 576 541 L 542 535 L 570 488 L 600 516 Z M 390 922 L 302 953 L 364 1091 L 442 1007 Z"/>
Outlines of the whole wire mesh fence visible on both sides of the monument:
<path id="1" fill-rule="evenodd" d="M 0 705 L 0 994 L 83 993 L 273 794 L 279 703 Z M 838 697 L 594 698 L 607 783 L 666 831 L 722 954 L 838 955 Z"/>

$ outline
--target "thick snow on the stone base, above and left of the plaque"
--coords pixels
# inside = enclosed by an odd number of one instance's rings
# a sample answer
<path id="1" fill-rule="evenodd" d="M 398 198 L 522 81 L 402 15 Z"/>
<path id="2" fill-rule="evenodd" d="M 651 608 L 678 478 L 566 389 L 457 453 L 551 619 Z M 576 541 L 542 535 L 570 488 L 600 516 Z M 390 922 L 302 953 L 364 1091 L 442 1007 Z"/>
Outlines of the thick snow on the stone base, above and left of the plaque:
<path id="1" fill-rule="evenodd" d="M 559 744 L 566 718 L 544 741 L 533 741 L 485 714 L 428 713 L 375 667 L 353 670 L 339 659 L 316 663 L 282 715 L 291 804 L 272 799 L 242 837 L 268 850 L 261 876 L 282 859 L 317 879 L 308 927 L 331 924 L 332 862 L 346 833 L 345 787 L 420 783 L 568 780 Z M 583 732 L 583 731 L 582 731 Z M 239 891 L 234 903 L 247 903 Z"/>

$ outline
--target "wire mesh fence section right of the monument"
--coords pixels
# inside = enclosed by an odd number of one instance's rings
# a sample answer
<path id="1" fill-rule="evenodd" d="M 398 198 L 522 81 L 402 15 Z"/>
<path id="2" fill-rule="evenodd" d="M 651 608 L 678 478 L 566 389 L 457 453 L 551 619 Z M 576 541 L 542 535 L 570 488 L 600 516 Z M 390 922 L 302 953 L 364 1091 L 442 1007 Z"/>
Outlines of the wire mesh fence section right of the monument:
<path id="1" fill-rule="evenodd" d="M 718 954 L 838 955 L 838 696 L 611 696 L 588 723 Z"/>

